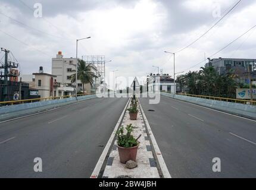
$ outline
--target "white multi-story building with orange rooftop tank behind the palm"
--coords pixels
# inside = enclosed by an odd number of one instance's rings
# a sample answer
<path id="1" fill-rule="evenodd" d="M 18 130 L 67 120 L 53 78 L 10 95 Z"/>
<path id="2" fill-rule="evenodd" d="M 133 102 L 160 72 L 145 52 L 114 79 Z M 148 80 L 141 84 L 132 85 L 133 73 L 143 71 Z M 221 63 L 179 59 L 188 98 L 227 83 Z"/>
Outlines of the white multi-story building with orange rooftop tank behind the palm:
<path id="1" fill-rule="evenodd" d="M 92 65 L 92 72 L 97 76 L 93 81 L 93 85 L 85 84 L 85 93 L 90 93 L 96 91 L 96 84 L 99 81 L 97 68 Z M 64 58 L 62 52 L 58 52 L 56 58 L 52 58 L 52 74 L 56 75 L 57 83 L 60 83 L 60 87 L 63 88 L 63 93 L 69 95 L 69 93 L 74 93 L 75 84 L 71 83 L 70 76 L 76 73 L 76 58 Z M 77 91 L 83 91 L 83 84 L 80 80 L 77 81 L 78 89 Z"/>

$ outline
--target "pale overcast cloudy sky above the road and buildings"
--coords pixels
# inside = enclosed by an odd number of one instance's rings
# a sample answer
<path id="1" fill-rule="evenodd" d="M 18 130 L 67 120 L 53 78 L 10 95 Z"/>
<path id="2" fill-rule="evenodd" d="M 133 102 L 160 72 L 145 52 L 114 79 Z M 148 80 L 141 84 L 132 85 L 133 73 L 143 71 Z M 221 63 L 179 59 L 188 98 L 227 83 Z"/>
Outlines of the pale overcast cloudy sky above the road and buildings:
<path id="1" fill-rule="evenodd" d="M 82 55 L 105 55 L 109 72 L 142 77 L 157 72 L 173 75 L 177 52 L 201 36 L 238 0 L 0 0 L 0 46 L 10 49 L 22 74 L 43 66 L 51 73 L 51 58 L 59 50 L 65 58 L 76 56 L 76 39 Z M 42 18 L 34 5 L 42 4 Z M 176 72 L 226 46 L 256 24 L 256 1 L 243 0 L 213 30 L 191 47 L 177 53 Z M 256 58 L 256 31 L 251 30 L 215 57 Z M 0 54 L 0 59 L 3 53 Z M 198 70 L 204 63 L 191 71 Z"/>

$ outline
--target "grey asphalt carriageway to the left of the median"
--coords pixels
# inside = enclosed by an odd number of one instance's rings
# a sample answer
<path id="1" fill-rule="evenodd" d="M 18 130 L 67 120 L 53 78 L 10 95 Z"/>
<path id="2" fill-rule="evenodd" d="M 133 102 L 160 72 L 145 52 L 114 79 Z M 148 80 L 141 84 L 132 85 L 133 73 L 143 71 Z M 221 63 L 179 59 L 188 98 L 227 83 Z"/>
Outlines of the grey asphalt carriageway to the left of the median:
<path id="1" fill-rule="evenodd" d="M 0 178 L 89 178 L 127 100 L 87 100 L 0 123 Z M 43 172 L 33 170 L 36 157 Z"/>

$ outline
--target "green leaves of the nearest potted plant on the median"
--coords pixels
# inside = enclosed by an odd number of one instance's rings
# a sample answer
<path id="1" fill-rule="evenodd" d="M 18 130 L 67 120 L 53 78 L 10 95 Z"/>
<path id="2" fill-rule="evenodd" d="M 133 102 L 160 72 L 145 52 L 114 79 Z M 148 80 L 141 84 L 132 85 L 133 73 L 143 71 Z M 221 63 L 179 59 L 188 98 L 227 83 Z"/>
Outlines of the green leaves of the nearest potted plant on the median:
<path id="1" fill-rule="evenodd" d="M 131 148 L 136 147 L 138 145 L 138 142 L 136 139 L 131 135 L 134 127 L 132 124 L 126 126 L 127 133 L 124 134 L 124 128 L 121 126 L 121 128 L 117 131 L 117 144 L 120 147 L 124 148 Z"/>

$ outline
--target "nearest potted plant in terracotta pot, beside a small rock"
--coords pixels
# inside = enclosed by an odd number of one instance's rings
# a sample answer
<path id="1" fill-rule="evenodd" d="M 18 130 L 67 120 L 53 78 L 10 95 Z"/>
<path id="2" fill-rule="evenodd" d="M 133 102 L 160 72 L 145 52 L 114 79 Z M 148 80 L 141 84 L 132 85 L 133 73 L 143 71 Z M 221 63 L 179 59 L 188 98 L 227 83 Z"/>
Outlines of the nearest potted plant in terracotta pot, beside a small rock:
<path id="1" fill-rule="evenodd" d="M 126 163 L 129 160 L 136 162 L 139 142 L 138 139 L 141 135 L 135 139 L 131 134 L 133 131 L 132 124 L 126 126 L 127 133 L 124 134 L 123 126 L 117 131 L 117 147 L 118 154 L 121 163 Z"/>

